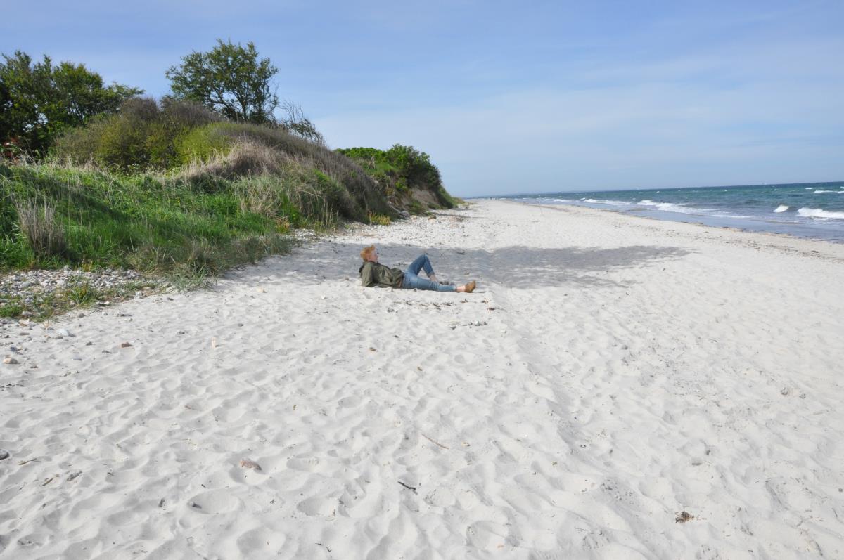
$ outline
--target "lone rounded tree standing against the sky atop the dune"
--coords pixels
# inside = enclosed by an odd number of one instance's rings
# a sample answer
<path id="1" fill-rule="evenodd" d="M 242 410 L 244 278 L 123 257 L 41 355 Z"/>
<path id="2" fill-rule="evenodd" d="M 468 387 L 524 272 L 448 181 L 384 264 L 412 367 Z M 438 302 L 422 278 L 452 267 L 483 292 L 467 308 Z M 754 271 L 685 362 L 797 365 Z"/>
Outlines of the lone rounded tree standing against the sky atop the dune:
<path id="1" fill-rule="evenodd" d="M 208 52 L 193 51 L 166 72 L 177 99 L 194 101 L 233 121 L 273 123 L 279 98 L 270 80 L 279 72 L 268 58 L 258 60 L 252 42 L 241 46 L 217 40 Z"/>

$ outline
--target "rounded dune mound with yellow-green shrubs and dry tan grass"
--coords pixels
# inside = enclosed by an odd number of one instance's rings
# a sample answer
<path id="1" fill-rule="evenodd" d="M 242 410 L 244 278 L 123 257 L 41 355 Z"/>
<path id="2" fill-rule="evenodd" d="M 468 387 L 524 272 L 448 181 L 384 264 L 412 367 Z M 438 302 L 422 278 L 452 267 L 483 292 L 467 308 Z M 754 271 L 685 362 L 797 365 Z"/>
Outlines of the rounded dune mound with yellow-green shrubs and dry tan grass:
<path id="1" fill-rule="evenodd" d="M 131 100 L 120 113 L 59 139 L 52 154 L 124 174 L 166 173 L 204 191 L 228 187 L 220 179 L 269 177 L 266 185 L 278 187 L 279 200 L 295 201 L 307 191 L 306 199 L 322 197 L 342 218 L 394 213 L 376 182 L 342 154 L 279 128 L 225 121 L 172 100 Z"/>

